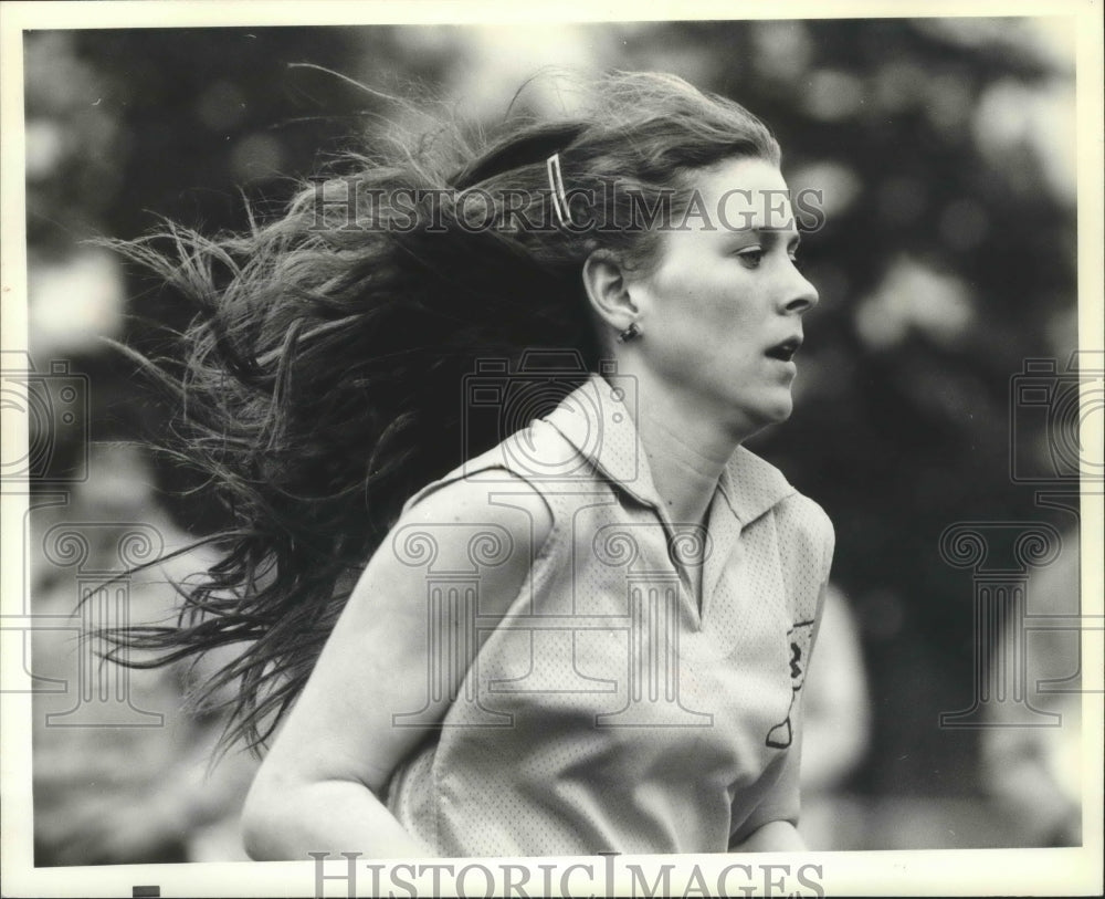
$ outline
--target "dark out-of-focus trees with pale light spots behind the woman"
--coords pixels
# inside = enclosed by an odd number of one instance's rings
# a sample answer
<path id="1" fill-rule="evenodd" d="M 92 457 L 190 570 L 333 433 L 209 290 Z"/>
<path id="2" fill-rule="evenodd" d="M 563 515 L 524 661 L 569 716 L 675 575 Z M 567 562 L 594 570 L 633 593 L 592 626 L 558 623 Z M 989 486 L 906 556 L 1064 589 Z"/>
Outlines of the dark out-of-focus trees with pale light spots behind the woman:
<path id="1" fill-rule="evenodd" d="M 278 211 L 293 176 L 394 113 L 295 63 L 390 94 L 428 85 L 487 122 L 549 63 L 671 71 L 730 95 L 778 135 L 791 188 L 823 191 L 825 224 L 803 241 L 822 301 L 796 412 L 755 448 L 836 526 L 874 715 L 848 790 L 970 799 L 978 734 L 938 717 L 972 698 L 971 583 L 938 543 L 959 521 L 1074 523 L 1009 472 L 1011 439 L 1038 452 L 1046 438 L 1010 420 L 1011 378 L 1025 358 L 1062 369 L 1076 346 L 1073 40 L 1040 19 L 29 33 L 31 348 L 92 376 L 94 440 L 157 427 L 133 366 L 91 335 L 156 349 L 154 325 L 185 310 L 80 241 L 138 237 L 157 216 L 243 228 L 243 199 Z M 201 505 L 167 502 L 202 530 Z"/>

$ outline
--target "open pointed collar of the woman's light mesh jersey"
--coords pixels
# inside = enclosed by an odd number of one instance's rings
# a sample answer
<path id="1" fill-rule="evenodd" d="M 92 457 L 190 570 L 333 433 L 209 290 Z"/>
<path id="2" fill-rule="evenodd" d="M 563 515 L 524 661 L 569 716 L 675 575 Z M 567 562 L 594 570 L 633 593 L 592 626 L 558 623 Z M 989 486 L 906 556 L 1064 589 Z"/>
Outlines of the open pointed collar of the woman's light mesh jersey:
<path id="1" fill-rule="evenodd" d="M 628 376 L 591 374 L 545 420 L 611 483 L 663 514 L 633 424 L 639 401 L 634 387 Z M 722 469 L 718 489 L 741 525 L 797 492 L 779 469 L 744 447 L 737 447 Z"/>

